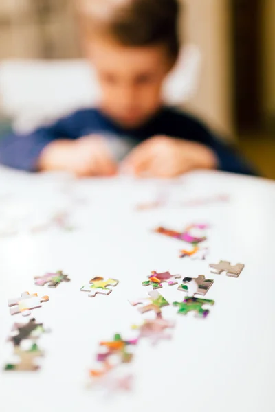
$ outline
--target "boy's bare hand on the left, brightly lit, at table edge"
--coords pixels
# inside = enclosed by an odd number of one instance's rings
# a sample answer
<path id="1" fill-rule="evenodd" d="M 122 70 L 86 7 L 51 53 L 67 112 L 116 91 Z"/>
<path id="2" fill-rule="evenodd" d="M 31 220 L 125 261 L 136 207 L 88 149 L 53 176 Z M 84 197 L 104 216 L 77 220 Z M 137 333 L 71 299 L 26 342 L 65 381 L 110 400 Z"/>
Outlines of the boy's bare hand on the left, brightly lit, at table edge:
<path id="1" fill-rule="evenodd" d="M 39 159 L 40 170 L 64 170 L 78 177 L 113 176 L 118 167 L 100 136 L 57 140 L 47 145 Z"/>

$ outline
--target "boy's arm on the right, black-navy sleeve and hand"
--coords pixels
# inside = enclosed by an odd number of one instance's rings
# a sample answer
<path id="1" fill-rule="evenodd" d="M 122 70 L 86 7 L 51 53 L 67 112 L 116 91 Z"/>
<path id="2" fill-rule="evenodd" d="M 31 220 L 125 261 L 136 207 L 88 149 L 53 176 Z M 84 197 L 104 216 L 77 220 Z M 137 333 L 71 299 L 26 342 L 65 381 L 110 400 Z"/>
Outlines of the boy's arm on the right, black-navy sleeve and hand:
<path id="1" fill-rule="evenodd" d="M 125 159 L 124 168 L 155 177 L 173 177 L 197 169 L 256 175 L 236 150 L 219 141 L 200 122 L 188 119 L 188 123 L 178 122 L 173 128 L 177 138 L 166 135 L 147 139 Z"/>

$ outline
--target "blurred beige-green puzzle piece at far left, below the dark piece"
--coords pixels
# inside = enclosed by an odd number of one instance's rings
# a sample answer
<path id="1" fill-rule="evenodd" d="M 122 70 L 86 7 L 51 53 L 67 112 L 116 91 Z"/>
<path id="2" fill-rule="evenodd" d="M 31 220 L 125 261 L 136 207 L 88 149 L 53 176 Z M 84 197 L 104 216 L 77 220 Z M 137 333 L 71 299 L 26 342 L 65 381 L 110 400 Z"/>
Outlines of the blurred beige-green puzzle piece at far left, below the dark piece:
<path id="1" fill-rule="evenodd" d="M 5 365 L 5 371 L 37 371 L 40 367 L 36 365 L 35 360 L 44 356 L 44 353 L 34 344 L 30 350 L 22 350 L 19 346 L 14 347 L 14 355 L 19 357 L 20 362 L 8 363 Z"/>

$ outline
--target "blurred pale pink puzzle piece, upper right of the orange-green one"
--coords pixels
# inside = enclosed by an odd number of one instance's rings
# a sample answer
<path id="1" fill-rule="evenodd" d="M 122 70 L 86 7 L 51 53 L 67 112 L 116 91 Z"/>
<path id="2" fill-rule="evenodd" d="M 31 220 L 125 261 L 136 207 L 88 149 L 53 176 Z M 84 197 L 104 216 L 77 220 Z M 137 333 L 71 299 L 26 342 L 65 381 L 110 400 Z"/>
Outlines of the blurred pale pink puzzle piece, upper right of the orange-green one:
<path id="1" fill-rule="evenodd" d="M 132 328 L 140 331 L 139 338 L 149 338 L 152 345 L 156 345 L 162 339 L 171 339 L 172 335 L 165 332 L 168 328 L 174 328 L 175 322 L 165 321 L 162 317 L 154 320 L 147 319 L 140 326 L 134 325 Z"/>

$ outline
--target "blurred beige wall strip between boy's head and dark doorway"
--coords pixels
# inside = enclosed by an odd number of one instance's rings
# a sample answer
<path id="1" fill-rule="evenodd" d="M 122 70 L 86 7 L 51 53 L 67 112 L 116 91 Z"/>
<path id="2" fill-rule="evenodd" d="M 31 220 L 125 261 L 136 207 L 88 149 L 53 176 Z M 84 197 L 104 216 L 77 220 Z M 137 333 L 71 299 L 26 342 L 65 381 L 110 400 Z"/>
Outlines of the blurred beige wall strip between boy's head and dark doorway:
<path id="1" fill-rule="evenodd" d="M 230 65 L 230 0 L 185 0 L 188 41 L 203 54 L 200 87 L 190 108 L 231 134 L 232 73 Z"/>

